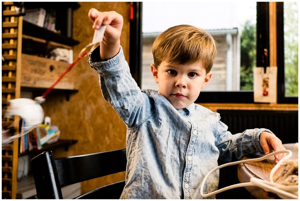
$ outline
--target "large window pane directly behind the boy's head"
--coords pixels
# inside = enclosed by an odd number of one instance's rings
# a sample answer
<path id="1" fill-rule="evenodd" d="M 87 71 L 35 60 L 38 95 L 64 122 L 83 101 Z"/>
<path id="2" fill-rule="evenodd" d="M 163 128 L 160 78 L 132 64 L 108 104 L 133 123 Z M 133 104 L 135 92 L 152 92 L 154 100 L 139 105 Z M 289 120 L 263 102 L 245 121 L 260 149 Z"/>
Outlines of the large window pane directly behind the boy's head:
<path id="1" fill-rule="evenodd" d="M 167 28 L 180 24 L 207 30 L 219 44 L 213 76 L 202 91 L 253 90 L 249 74 L 255 66 L 256 2 L 245 1 L 143 2 L 142 89 L 158 89 L 150 71 L 153 41 Z"/>

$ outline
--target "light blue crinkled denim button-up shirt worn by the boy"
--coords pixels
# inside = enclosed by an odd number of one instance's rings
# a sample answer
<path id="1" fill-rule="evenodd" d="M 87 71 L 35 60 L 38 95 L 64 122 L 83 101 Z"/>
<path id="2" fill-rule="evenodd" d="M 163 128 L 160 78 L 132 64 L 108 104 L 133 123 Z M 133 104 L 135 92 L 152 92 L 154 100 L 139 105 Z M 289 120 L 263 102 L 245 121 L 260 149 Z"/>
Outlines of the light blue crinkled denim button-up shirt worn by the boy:
<path id="1" fill-rule="evenodd" d="M 263 153 L 259 135 L 271 131 L 249 129 L 232 135 L 218 113 L 194 103 L 176 109 L 157 91 L 140 90 L 122 47 L 108 61 L 100 61 L 99 46 L 89 57 L 104 99 L 127 126 L 121 199 L 201 199 L 202 180 L 218 166 L 218 158 L 229 162 Z M 204 193 L 215 191 L 218 182 L 216 171 L 207 179 Z"/>

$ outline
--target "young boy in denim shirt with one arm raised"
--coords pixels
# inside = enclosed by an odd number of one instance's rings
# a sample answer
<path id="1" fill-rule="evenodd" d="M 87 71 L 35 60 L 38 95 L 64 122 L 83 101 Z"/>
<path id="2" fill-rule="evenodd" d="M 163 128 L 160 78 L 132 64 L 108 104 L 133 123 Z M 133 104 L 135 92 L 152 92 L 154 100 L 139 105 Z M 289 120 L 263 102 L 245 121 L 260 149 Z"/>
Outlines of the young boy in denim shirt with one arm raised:
<path id="1" fill-rule="evenodd" d="M 127 126 L 121 199 L 201 199 L 202 180 L 218 158 L 235 161 L 284 149 L 268 129 L 232 135 L 218 113 L 194 103 L 212 75 L 216 48 L 210 34 L 190 25 L 164 31 L 153 44 L 151 65 L 159 91 L 140 90 L 120 46 L 122 16 L 96 9 L 88 16 L 95 29 L 107 25 L 88 63 L 99 74 L 105 100 Z M 204 192 L 215 191 L 218 180 L 215 172 Z"/>

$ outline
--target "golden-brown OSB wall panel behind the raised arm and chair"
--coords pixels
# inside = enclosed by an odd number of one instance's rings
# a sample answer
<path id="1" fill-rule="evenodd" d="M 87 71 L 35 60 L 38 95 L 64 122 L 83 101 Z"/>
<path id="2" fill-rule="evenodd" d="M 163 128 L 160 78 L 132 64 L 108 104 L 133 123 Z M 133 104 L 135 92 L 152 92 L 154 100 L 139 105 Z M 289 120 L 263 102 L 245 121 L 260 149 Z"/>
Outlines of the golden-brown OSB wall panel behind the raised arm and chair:
<path id="1" fill-rule="evenodd" d="M 80 44 L 74 46 L 74 60 L 80 50 L 91 43 L 94 30 L 88 19 L 88 11 L 94 7 L 100 11 L 115 10 L 122 14 L 124 26 L 121 45 L 125 58 L 129 59 L 129 2 L 80 2 L 81 7 L 73 13 L 73 38 Z M 75 87 L 79 90 L 70 95 L 67 101 L 64 93 L 50 92 L 42 104 L 45 115 L 52 118 L 52 124 L 61 130 L 61 139 L 77 139 L 66 152 L 63 148 L 54 152 L 55 157 L 82 155 L 113 149 L 125 148 L 126 127 L 113 108 L 104 101 L 98 75 L 87 64 L 87 57 L 80 60 L 72 69 L 75 71 Z M 113 160 L 113 158 L 112 158 Z M 109 161 L 107 161 L 109 162 Z M 93 164 L 91 164 L 93 165 Z M 125 179 L 125 173 L 117 173 L 82 182 L 82 193 Z"/>

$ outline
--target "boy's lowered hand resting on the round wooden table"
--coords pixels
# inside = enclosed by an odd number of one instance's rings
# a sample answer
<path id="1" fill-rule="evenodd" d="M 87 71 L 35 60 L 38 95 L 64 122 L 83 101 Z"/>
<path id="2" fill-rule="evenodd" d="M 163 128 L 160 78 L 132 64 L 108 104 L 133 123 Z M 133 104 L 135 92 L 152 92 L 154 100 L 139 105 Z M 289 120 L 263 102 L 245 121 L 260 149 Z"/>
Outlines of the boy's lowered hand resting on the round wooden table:
<path id="1" fill-rule="evenodd" d="M 281 143 L 281 140 L 276 137 L 275 135 L 269 133 L 269 132 L 262 132 L 259 136 L 259 142 L 260 146 L 262 146 L 262 149 L 265 152 L 265 155 L 269 154 L 271 150 L 273 151 L 279 151 L 279 150 L 286 150 L 284 146 Z M 274 162 L 277 164 L 283 156 L 286 154 L 277 154 L 275 155 Z"/>

